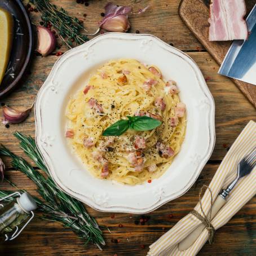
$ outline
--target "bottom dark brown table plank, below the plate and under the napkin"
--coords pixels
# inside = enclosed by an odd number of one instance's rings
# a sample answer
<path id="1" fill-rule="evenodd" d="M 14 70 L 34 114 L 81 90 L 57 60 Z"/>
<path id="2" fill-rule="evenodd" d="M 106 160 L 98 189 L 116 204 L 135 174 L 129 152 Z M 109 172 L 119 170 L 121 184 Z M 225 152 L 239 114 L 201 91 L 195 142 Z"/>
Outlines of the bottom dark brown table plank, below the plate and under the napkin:
<path id="1" fill-rule="evenodd" d="M 173 200 L 161 208 L 146 214 L 150 217 L 144 226 L 135 224 L 142 216 L 135 214 L 101 213 L 86 206 L 100 225 L 107 226 L 104 231 L 107 245 L 104 251 L 83 243 L 67 228 L 58 223 L 47 222 L 39 218 L 24 230 L 11 243 L 0 246 L 0 255 L 88 255 L 88 256 L 129 256 L 146 255 L 148 246 L 164 235 L 197 204 L 202 184 L 209 184 L 218 165 L 206 165 L 197 182 L 182 197 Z M 7 171 L 7 178 L 36 195 L 36 187 L 19 171 Z M 3 183 L 4 189 L 10 185 Z M 170 215 L 172 214 L 172 215 Z M 213 245 L 206 244 L 198 255 L 253 255 L 256 239 L 256 197 L 237 213 L 226 226 L 218 229 Z M 122 224 L 123 227 L 118 227 Z M 118 240 L 118 242 L 116 241 Z M 145 248 L 142 248 L 145 246 Z"/>

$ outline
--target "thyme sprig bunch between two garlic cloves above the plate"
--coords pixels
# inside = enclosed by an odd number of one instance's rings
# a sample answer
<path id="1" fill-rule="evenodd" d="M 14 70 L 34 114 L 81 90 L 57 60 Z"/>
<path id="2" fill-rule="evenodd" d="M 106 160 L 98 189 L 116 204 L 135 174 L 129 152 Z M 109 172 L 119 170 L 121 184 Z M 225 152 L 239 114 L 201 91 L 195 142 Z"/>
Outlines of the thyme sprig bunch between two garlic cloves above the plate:
<path id="1" fill-rule="evenodd" d="M 50 0 L 30 0 L 30 2 L 41 12 L 45 27 L 50 23 L 56 30 L 59 38 L 69 48 L 72 48 L 73 42 L 81 45 L 89 40 L 85 35 L 80 33 L 83 26 L 77 17 L 69 16 L 64 8 L 52 4 Z"/>

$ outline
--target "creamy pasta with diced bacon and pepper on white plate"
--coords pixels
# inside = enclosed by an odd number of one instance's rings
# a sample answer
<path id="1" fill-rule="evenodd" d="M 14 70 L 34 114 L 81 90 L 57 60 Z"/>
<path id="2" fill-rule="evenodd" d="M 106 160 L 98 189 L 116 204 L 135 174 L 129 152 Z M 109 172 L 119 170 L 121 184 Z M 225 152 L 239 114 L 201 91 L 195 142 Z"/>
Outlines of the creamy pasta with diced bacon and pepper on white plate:
<path id="1" fill-rule="evenodd" d="M 134 59 L 111 60 L 69 100 L 66 137 L 90 173 L 123 184 L 161 176 L 179 152 L 186 131 L 186 106 L 178 86 L 161 71 Z M 162 123 L 149 131 L 102 133 L 126 116 L 148 116 Z"/>

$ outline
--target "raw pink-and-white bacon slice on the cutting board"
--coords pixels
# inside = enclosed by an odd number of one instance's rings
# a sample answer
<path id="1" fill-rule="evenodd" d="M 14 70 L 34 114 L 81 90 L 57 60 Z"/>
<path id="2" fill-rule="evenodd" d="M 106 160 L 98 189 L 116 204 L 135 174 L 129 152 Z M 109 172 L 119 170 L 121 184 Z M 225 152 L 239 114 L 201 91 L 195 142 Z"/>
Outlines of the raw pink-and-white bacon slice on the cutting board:
<path id="1" fill-rule="evenodd" d="M 244 0 L 211 0 L 209 41 L 247 39 Z"/>

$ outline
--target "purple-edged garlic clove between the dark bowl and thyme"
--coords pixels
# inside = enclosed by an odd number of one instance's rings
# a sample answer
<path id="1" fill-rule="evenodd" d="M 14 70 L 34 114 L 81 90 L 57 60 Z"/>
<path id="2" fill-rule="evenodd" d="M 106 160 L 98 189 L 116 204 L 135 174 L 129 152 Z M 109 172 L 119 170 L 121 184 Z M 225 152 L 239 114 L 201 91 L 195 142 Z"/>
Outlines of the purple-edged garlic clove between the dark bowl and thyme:
<path id="1" fill-rule="evenodd" d="M 50 54 L 56 47 L 56 37 L 48 28 L 37 27 L 37 51 L 43 56 Z"/>

